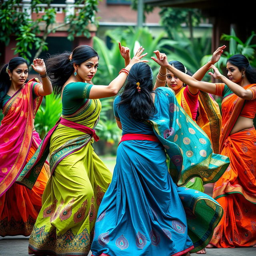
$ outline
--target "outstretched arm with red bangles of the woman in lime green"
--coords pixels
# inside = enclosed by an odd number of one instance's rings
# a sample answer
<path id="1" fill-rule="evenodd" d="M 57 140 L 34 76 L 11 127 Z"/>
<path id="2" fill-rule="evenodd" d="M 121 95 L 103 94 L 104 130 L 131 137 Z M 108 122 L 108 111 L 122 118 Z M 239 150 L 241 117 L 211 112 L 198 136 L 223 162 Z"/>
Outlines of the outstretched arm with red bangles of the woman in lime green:
<path id="1" fill-rule="evenodd" d="M 130 71 L 131 67 L 138 62 L 148 62 L 148 60 L 142 60 L 144 56 L 147 55 L 147 53 L 142 54 L 144 51 L 144 48 L 140 46 L 130 63 L 126 66 L 125 70 L 128 72 Z M 108 86 L 104 85 L 94 85 L 92 86 L 90 90 L 90 99 L 99 99 L 99 98 L 107 98 L 111 96 L 115 96 L 122 86 L 124 85 L 124 82 L 126 81 L 126 78 L 128 76 L 128 72 L 120 72 L 120 74 L 112 81 Z"/>

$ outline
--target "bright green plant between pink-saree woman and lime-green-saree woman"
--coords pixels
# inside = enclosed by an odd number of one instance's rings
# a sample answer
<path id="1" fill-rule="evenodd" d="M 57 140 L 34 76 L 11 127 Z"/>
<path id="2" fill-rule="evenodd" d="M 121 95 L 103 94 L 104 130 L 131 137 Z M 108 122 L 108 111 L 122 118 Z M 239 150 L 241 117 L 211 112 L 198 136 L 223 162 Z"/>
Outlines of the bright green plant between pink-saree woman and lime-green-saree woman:
<path id="1" fill-rule="evenodd" d="M 35 118 L 35 128 L 40 138 L 44 138 L 45 134 L 56 124 L 62 112 L 62 102 L 60 95 L 50 94 L 44 96 Z"/>

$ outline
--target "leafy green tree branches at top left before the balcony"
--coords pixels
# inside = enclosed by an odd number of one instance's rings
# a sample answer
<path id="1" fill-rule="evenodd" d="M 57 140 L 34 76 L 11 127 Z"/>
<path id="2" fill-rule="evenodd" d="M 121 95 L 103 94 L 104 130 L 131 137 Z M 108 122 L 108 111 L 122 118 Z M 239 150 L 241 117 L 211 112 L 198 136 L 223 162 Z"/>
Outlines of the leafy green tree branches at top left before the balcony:
<path id="1" fill-rule="evenodd" d="M 76 7 L 79 12 L 66 15 L 62 24 L 56 24 L 56 10 L 50 6 L 52 0 L 33 0 L 31 9 L 38 13 L 42 8 L 38 4 L 47 4 L 44 14 L 36 20 L 31 20 L 26 12 L 21 12 L 22 0 L 2 1 L 0 9 L 0 42 L 6 45 L 10 42 L 10 36 L 15 36 L 17 43 L 14 54 L 23 58 L 31 58 L 30 50 L 35 46 L 37 52 L 33 58 L 37 58 L 42 51 L 48 50 L 46 38 L 54 33 L 57 28 L 67 26 L 68 40 L 74 40 L 75 36 L 90 37 L 89 24 L 96 24 L 94 16 L 98 6 L 98 0 L 76 0 Z M 40 34 L 40 27 L 44 28 L 43 36 Z"/>

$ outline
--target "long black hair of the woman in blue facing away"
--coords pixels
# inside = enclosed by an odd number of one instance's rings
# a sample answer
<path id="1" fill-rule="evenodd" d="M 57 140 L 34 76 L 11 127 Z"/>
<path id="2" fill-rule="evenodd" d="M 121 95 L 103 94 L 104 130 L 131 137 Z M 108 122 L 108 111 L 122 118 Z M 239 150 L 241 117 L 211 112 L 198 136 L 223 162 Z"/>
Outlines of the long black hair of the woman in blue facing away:
<path id="1" fill-rule="evenodd" d="M 137 89 L 138 82 L 140 83 L 140 92 Z M 155 113 L 152 90 L 153 79 L 150 66 L 144 62 L 136 63 L 130 69 L 127 83 L 118 105 L 127 104 L 131 118 L 139 122 L 146 121 Z"/>

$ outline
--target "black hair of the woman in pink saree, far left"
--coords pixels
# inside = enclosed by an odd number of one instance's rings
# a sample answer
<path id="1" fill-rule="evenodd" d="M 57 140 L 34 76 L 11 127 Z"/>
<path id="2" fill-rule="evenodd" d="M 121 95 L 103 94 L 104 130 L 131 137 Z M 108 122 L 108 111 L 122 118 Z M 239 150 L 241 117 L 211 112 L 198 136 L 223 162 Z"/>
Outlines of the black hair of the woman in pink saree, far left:
<path id="1" fill-rule="evenodd" d="M 0 102 L 2 101 L 2 98 L 7 94 L 8 90 L 11 86 L 11 80 L 10 76 L 8 75 L 8 70 L 12 73 L 12 71 L 19 66 L 20 64 L 26 63 L 28 66 L 27 60 L 21 57 L 14 57 L 12 58 L 8 64 L 5 64 L 2 66 L 0 70 Z M 8 67 L 8 70 L 7 70 Z M 7 72 L 6 72 L 7 70 Z"/>

